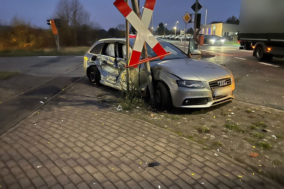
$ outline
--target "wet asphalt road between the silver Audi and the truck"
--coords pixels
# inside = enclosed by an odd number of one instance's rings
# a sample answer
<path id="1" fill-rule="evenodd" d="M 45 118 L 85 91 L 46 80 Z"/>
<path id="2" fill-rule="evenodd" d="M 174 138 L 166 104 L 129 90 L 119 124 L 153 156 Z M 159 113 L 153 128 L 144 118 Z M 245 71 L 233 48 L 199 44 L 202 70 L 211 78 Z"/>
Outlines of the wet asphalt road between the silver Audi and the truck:
<path id="1" fill-rule="evenodd" d="M 188 43 L 169 41 L 181 50 L 188 51 Z M 284 59 L 273 58 L 260 62 L 252 51 L 240 50 L 237 45 L 200 47 L 204 55 L 193 55 L 204 61 L 217 63 L 233 72 L 236 100 L 284 110 Z"/>

